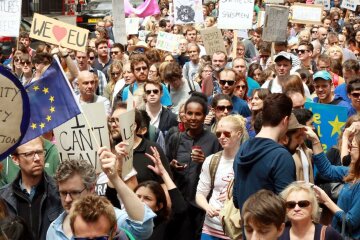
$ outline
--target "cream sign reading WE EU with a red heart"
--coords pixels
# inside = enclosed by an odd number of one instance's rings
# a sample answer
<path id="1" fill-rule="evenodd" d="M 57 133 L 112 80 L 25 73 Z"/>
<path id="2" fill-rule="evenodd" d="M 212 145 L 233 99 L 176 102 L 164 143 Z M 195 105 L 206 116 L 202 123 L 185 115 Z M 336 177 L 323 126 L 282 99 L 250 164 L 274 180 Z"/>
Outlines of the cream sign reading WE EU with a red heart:
<path id="1" fill-rule="evenodd" d="M 41 14 L 34 14 L 30 37 L 47 43 L 86 52 L 89 30 Z"/>

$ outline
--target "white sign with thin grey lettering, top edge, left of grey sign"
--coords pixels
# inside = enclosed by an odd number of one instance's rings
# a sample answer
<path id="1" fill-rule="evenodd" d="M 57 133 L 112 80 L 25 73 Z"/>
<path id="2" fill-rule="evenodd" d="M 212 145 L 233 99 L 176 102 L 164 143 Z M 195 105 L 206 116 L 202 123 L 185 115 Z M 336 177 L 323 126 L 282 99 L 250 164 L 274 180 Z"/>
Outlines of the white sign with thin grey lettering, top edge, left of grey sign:
<path id="1" fill-rule="evenodd" d="M 221 0 L 217 27 L 219 29 L 251 29 L 254 0 Z"/>

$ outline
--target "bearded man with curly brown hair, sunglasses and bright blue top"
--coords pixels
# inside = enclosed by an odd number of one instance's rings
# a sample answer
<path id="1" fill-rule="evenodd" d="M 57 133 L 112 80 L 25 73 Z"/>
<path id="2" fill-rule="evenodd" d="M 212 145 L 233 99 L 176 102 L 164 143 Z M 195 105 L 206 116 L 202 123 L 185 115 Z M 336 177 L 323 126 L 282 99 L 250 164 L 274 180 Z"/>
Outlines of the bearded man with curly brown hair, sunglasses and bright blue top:
<path id="1" fill-rule="evenodd" d="M 124 88 L 124 91 L 122 93 L 122 100 L 126 101 L 128 98 L 129 91 L 134 94 L 134 92 L 138 88 L 143 88 L 145 82 L 148 80 L 148 74 L 149 74 L 149 60 L 145 56 L 145 54 L 136 54 L 131 59 L 130 68 L 131 71 L 134 74 L 135 82 L 131 85 Z M 168 89 L 164 84 L 162 84 L 162 91 L 163 95 L 160 99 L 161 104 L 164 106 L 171 106 L 171 97 Z"/>

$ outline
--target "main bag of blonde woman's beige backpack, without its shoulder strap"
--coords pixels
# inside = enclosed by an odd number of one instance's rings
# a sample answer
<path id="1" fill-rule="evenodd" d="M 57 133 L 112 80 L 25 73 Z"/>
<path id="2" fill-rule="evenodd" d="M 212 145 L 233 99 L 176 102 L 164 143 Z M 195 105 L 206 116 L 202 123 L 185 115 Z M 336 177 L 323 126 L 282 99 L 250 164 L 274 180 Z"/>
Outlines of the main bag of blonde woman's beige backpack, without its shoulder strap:
<path id="1" fill-rule="evenodd" d="M 237 209 L 234 206 L 233 185 L 234 180 L 229 183 L 226 191 L 227 198 L 225 200 L 224 207 L 220 211 L 220 220 L 226 236 L 231 239 L 242 239 L 240 209 Z"/>

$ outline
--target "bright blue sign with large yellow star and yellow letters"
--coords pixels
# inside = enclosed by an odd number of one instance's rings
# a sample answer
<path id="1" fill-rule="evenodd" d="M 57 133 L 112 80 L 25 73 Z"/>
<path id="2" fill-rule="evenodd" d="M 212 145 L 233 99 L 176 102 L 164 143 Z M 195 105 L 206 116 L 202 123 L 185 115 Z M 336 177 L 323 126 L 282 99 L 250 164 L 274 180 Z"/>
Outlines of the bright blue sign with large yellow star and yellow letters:
<path id="1" fill-rule="evenodd" d="M 320 137 L 324 151 L 337 144 L 337 139 L 347 120 L 347 108 L 320 103 L 305 103 L 313 112 L 313 124 Z"/>

